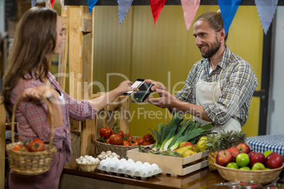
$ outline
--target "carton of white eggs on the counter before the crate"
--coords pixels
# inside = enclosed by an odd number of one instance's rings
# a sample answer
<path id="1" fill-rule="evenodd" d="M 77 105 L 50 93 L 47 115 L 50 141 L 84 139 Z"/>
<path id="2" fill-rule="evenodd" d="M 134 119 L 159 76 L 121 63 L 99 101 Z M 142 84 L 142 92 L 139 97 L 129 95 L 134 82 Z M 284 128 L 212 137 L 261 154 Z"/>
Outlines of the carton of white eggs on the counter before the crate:
<path id="1" fill-rule="evenodd" d="M 133 159 L 126 160 L 124 158 L 102 159 L 97 169 L 102 172 L 141 179 L 150 178 L 162 173 L 162 170 L 157 164 L 149 164 L 148 162 L 142 163 L 141 161 L 134 162 Z"/>

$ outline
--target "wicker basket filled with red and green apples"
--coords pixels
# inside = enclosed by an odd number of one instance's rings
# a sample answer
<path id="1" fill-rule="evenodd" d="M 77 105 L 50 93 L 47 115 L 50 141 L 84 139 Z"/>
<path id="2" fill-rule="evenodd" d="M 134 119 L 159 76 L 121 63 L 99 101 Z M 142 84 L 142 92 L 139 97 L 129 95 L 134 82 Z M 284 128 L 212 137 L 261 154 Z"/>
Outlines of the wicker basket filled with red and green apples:
<path id="1" fill-rule="evenodd" d="M 283 169 L 282 156 L 276 152 L 252 152 L 246 143 L 218 152 L 215 166 L 227 181 L 275 181 Z"/>

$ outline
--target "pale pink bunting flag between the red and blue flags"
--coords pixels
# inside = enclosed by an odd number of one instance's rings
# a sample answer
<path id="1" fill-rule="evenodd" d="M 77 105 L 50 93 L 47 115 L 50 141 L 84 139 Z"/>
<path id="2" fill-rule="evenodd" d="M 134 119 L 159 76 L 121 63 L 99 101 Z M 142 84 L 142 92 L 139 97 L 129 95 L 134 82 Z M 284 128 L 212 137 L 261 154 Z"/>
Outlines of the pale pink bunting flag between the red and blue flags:
<path id="1" fill-rule="evenodd" d="M 184 11 L 184 22 L 189 30 L 192 21 L 199 8 L 200 0 L 182 0 L 182 10 Z"/>

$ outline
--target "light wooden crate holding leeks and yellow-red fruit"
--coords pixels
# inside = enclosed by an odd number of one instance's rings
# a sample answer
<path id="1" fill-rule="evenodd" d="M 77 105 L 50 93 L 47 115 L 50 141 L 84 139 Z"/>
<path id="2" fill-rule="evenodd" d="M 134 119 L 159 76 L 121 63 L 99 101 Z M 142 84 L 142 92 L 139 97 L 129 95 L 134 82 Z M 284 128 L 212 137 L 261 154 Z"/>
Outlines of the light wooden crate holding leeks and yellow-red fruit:
<path id="1" fill-rule="evenodd" d="M 158 164 L 162 169 L 163 174 L 170 174 L 171 176 L 184 176 L 203 167 L 208 166 L 208 161 L 204 160 L 197 164 L 191 164 L 191 162 L 208 157 L 209 150 L 199 152 L 190 157 L 170 157 L 157 154 L 148 154 L 139 152 L 138 148 L 127 151 L 127 157 L 134 161 L 148 162 L 150 164 Z"/>

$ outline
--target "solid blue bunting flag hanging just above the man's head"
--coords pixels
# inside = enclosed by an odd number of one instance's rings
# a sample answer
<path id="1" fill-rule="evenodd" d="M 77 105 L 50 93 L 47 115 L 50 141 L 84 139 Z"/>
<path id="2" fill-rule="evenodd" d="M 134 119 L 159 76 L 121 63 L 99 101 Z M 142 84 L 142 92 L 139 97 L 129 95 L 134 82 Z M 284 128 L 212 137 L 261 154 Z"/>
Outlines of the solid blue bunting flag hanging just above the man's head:
<path id="1" fill-rule="evenodd" d="M 227 34 L 227 31 L 229 30 L 232 19 L 235 17 L 237 8 L 239 8 L 241 2 L 242 0 L 218 0 L 224 22 L 225 34 Z"/>

